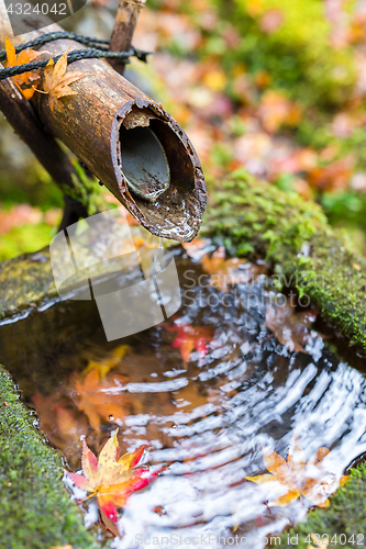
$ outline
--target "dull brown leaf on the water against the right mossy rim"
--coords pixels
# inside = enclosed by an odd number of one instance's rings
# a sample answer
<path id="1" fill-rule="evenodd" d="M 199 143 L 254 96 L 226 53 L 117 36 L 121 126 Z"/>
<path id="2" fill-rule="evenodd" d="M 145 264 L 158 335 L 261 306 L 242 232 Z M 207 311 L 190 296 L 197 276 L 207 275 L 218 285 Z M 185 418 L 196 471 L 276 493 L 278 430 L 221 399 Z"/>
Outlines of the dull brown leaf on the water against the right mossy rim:
<path id="1" fill-rule="evenodd" d="M 275 334 L 280 344 L 290 350 L 307 352 L 303 344 L 310 338 L 310 326 L 315 321 L 314 311 L 295 312 L 290 300 L 285 305 L 274 309 L 269 305 L 266 310 L 266 326 Z"/>

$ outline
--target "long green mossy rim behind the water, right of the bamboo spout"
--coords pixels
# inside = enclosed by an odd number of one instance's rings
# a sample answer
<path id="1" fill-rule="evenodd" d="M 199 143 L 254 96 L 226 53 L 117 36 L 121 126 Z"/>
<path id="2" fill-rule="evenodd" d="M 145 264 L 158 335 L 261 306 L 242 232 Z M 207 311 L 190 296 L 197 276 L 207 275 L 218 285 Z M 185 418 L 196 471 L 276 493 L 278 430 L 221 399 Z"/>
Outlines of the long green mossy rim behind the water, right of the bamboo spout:
<path id="1" fill-rule="evenodd" d="M 202 234 L 232 255 L 270 260 L 278 285 L 295 287 L 366 350 L 366 260 L 350 250 L 313 202 L 237 170 L 210 193 Z"/>

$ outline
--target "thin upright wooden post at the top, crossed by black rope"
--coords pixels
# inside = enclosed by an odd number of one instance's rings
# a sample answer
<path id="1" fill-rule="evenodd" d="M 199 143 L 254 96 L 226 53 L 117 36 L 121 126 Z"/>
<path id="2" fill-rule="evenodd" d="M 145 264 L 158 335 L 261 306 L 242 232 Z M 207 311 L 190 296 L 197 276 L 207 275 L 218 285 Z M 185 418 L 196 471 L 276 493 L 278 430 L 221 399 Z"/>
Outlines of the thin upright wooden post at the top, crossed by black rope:
<path id="1" fill-rule="evenodd" d="M 119 0 L 114 27 L 109 48 L 111 52 L 129 52 L 132 46 L 133 33 L 146 0 Z M 112 67 L 123 75 L 125 64 L 111 60 Z"/>

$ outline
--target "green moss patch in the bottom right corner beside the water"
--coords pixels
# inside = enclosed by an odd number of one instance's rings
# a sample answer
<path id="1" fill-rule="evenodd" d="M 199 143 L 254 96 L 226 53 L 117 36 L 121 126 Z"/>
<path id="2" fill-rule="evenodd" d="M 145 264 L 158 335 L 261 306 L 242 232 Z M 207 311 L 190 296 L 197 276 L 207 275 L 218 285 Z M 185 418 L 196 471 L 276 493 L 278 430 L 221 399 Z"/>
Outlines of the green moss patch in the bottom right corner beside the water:
<path id="1" fill-rule="evenodd" d="M 366 529 L 366 463 L 353 469 L 348 482 L 331 497 L 331 506 L 325 509 L 310 512 L 306 523 L 291 528 L 281 536 L 280 547 L 307 549 L 311 533 L 329 536 L 329 548 L 344 547 L 351 549 L 365 544 L 365 538 L 357 538 Z M 345 534 L 340 538 L 341 534 Z M 288 542 L 288 536 L 298 537 L 296 546 Z M 336 536 L 336 537 L 334 537 Z M 306 541 L 307 539 L 307 541 Z M 332 542 L 333 539 L 333 542 Z M 344 544 L 344 541 L 346 542 Z M 311 545 L 314 545 L 311 542 Z"/>

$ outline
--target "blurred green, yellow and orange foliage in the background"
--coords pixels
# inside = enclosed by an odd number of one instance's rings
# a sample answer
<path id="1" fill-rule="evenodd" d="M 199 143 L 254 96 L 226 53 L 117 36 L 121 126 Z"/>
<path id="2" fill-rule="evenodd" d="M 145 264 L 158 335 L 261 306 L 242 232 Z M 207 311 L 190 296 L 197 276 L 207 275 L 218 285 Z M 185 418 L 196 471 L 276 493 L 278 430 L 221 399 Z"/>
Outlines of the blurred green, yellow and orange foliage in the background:
<path id="1" fill-rule="evenodd" d="M 65 26 L 109 37 L 117 0 Z M 126 77 L 190 136 L 209 181 L 244 166 L 320 202 L 366 253 L 365 0 L 147 0 Z M 1 121 L 0 258 L 46 245 L 63 200 Z"/>

